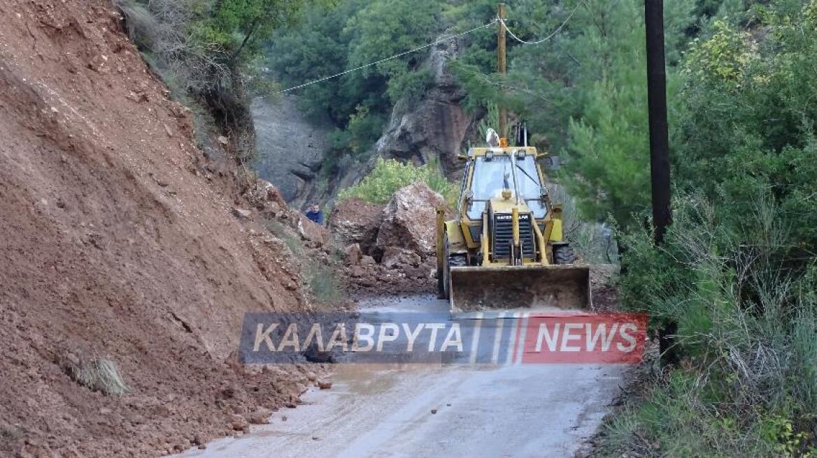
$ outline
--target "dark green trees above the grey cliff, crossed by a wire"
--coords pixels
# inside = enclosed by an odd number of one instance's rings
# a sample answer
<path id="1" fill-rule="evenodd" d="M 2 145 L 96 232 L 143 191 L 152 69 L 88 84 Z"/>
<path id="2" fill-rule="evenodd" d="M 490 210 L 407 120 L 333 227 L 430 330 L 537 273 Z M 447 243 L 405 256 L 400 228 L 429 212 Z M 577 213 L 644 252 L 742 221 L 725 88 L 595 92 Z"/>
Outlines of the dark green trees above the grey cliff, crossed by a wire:
<path id="1" fill-rule="evenodd" d="M 316 5 L 270 41 L 270 68 L 284 86 L 297 86 L 422 46 L 441 31 L 441 5 L 434 0 Z M 431 82 L 422 67 L 426 57 L 427 52 L 404 55 L 299 91 L 301 109 L 335 127 L 329 158 L 360 159 L 382 133 L 394 104 L 422 95 Z"/>

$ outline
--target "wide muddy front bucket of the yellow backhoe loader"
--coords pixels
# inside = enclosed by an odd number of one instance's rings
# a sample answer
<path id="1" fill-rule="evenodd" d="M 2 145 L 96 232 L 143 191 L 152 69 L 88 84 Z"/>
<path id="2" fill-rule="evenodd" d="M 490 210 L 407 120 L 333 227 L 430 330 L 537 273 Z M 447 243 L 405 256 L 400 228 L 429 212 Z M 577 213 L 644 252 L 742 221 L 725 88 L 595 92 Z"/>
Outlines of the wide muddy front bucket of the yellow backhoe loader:
<path id="1" fill-rule="evenodd" d="M 587 309 L 590 267 L 451 267 L 451 311 Z"/>

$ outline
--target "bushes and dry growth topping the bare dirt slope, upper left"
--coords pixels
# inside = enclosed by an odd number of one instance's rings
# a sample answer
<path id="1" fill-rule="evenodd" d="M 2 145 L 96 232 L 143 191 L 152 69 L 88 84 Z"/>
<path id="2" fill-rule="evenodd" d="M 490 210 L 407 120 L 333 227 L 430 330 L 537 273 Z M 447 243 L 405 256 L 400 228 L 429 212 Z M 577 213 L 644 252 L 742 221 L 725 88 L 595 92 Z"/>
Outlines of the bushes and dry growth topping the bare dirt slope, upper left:
<path id="1" fill-rule="evenodd" d="M 259 75 L 272 33 L 313 2 L 296 0 L 117 0 L 127 31 L 173 97 L 194 108 L 200 144 L 212 124 L 239 161 L 255 152 L 248 97 L 269 92 Z"/>

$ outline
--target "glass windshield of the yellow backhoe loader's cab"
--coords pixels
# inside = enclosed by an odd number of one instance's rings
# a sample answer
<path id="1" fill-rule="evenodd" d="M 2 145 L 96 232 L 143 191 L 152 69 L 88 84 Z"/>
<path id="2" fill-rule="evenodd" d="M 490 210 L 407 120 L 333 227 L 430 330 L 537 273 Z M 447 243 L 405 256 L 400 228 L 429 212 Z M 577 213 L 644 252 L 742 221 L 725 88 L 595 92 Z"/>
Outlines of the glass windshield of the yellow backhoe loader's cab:
<path id="1" fill-rule="evenodd" d="M 511 156 L 493 156 L 490 160 L 484 156 L 476 158 L 471 181 L 471 191 L 474 195 L 468 208 L 468 218 L 480 218 L 487 201 L 502 197 L 503 189 L 514 192 L 511 171 L 513 166 Z M 534 212 L 534 218 L 545 218 L 547 208 L 542 201 L 542 183 L 539 181 L 534 156 L 516 157 L 516 187 L 519 189 L 520 197 Z"/>

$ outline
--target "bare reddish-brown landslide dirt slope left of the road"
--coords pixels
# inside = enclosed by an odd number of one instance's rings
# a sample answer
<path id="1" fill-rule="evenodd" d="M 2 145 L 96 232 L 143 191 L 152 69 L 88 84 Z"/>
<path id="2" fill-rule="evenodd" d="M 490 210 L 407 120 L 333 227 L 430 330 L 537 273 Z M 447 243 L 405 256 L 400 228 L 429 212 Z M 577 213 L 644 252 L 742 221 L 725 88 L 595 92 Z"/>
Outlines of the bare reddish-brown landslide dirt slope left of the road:
<path id="1" fill-rule="evenodd" d="M 114 7 L 0 17 L 0 456 L 156 456 L 292 402 L 296 376 L 230 354 L 243 312 L 306 307 L 297 270 L 230 213 L 235 178 L 204 167 Z M 127 394 L 72 381 L 83 355 Z"/>

